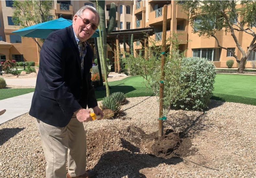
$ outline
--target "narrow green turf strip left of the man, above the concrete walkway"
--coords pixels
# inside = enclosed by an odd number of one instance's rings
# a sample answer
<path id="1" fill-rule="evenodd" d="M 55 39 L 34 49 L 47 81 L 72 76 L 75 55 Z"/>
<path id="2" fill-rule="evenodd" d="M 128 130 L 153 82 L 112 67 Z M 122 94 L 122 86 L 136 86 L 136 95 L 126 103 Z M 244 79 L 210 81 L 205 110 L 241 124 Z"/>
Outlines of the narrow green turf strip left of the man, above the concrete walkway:
<path id="1" fill-rule="evenodd" d="M 0 100 L 11 98 L 14 96 L 24 95 L 27 93 L 34 92 L 34 88 L 4 88 L 0 89 Z"/>

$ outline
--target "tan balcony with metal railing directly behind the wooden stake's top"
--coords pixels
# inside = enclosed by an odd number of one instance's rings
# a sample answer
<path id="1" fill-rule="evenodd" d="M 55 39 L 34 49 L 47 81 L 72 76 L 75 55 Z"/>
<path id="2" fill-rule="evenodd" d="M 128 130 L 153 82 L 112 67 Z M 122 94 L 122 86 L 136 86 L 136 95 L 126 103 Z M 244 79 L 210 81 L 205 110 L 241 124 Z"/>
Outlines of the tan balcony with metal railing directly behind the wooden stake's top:
<path id="1" fill-rule="evenodd" d="M 171 19 L 171 4 L 167 6 L 167 19 Z M 156 25 L 156 23 L 163 21 L 163 7 L 156 9 L 149 13 L 148 25 Z"/>

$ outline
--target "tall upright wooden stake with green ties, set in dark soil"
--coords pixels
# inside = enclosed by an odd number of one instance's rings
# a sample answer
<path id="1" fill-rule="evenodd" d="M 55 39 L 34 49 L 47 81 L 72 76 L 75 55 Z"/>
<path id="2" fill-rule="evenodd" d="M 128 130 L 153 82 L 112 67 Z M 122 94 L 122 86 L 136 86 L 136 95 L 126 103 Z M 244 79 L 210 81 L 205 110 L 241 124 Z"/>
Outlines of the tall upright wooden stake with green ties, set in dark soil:
<path id="1" fill-rule="evenodd" d="M 160 82 L 160 96 L 159 96 L 159 118 L 163 117 L 163 97 L 164 97 L 164 65 L 165 65 L 165 48 L 166 48 L 166 29 L 167 29 L 167 5 L 163 8 L 163 32 L 162 32 L 162 54 L 161 54 L 161 81 Z M 163 120 L 159 119 L 158 139 L 164 134 Z"/>

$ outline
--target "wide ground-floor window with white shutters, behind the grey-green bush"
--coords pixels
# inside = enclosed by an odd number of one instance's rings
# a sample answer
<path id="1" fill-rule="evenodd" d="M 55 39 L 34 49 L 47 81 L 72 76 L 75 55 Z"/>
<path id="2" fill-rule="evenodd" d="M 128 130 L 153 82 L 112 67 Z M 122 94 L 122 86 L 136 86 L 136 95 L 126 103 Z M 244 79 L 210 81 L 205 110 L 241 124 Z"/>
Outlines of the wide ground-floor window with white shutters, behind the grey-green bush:
<path id="1" fill-rule="evenodd" d="M 193 57 L 206 58 L 209 61 L 220 61 L 221 48 L 192 49 Z"/>

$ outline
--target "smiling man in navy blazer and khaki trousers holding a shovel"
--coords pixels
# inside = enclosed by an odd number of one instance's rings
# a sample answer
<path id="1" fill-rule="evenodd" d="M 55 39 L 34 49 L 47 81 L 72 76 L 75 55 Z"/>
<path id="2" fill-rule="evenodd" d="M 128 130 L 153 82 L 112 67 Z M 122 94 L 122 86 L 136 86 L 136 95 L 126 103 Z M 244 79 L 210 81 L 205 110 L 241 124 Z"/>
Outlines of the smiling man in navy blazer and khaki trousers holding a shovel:
<path id="1" fill-rule="evenodd" d="M 83 6 L 75 14 L 72 26 L 51 33 L 42 46 L 29 114 L 37 119 L 47 178 L 66 177 L 66 157 L 67 177 L 96 174 L 86 172 L 83 122 L 92 121 L 87 106 L 103 117 L 91 84 L 93 51 L 86 42 L 98 25 L 97 10 Z"/>

